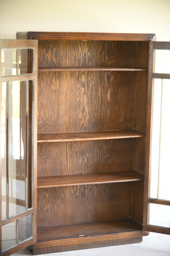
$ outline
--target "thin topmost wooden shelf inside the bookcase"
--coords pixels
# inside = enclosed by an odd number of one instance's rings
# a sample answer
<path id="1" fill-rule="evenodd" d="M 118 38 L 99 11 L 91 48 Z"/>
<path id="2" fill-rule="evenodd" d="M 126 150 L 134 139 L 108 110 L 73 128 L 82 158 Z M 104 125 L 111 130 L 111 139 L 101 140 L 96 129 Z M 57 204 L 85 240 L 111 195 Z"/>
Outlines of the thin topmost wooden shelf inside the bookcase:
<path id="1" fill-rule="evenodd" d="M 148 71 L 136 67 L 39 67 L 38 71 Z"/>

